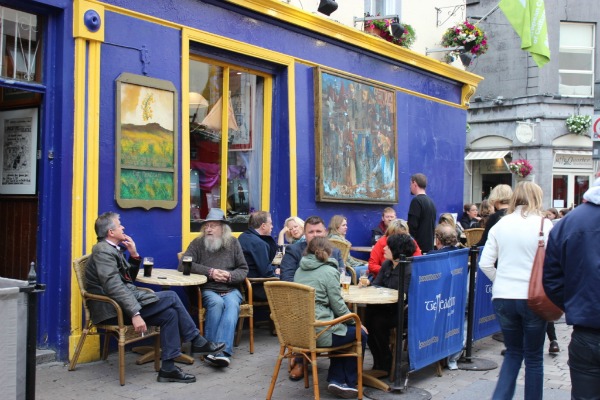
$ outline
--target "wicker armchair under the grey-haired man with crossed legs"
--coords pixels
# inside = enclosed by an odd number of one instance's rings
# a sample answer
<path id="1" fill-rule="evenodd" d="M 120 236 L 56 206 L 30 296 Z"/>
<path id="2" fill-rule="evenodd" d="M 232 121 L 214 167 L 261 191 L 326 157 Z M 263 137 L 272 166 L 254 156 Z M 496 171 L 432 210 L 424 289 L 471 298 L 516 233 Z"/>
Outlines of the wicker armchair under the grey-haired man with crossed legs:
<path id="1" fill-rule="evenodd" d="M 75 348 L 75 354 L 69 364 L 69 371 L 73 371 L 77 366 L 77 360 L 83 344 L 88 335 L 104 335 L 104 348 L 102 359 L 106 360 L 108 357 L 108 340 L 110 336 L 114 336 L 118 340 L 119 344 L 119 382 L 121 386 L 125 385 L 125 346 L 137 342 L 139 340 L 154 338 L 154 354 L 160 354 L 160 330 L 158 327 L 148 326 L 145 336 L 137 333 L 133 329 L 133 325 L 125 325 L 125 318 L 123 316 L 123 310 L 117 304 L 116 301 L 107 296 L 97 295 L 88 293 L 86 290 L 85 282 L 85 268 L 87 266 L 90 255 L 80 257 L 73 261 L 73 272 L 77 277 L 77 283 L 79 284 L 79 290 L 81 291 L 81 300 L 83 302 L 83 308 L 85 310 L 85 322 L 79 343 Z M 140 290 L 150 290 L 140 288 Z M 117 311 L 117 325 L 100 325 L 95 324 L 90 317 L 90 310 L 88 308 L 88 301 L 102 301 L 105 303 L 112 304 Z M 160 369 L 160 357 L 154 357 L 154 369 L 158 371 Z"/>

